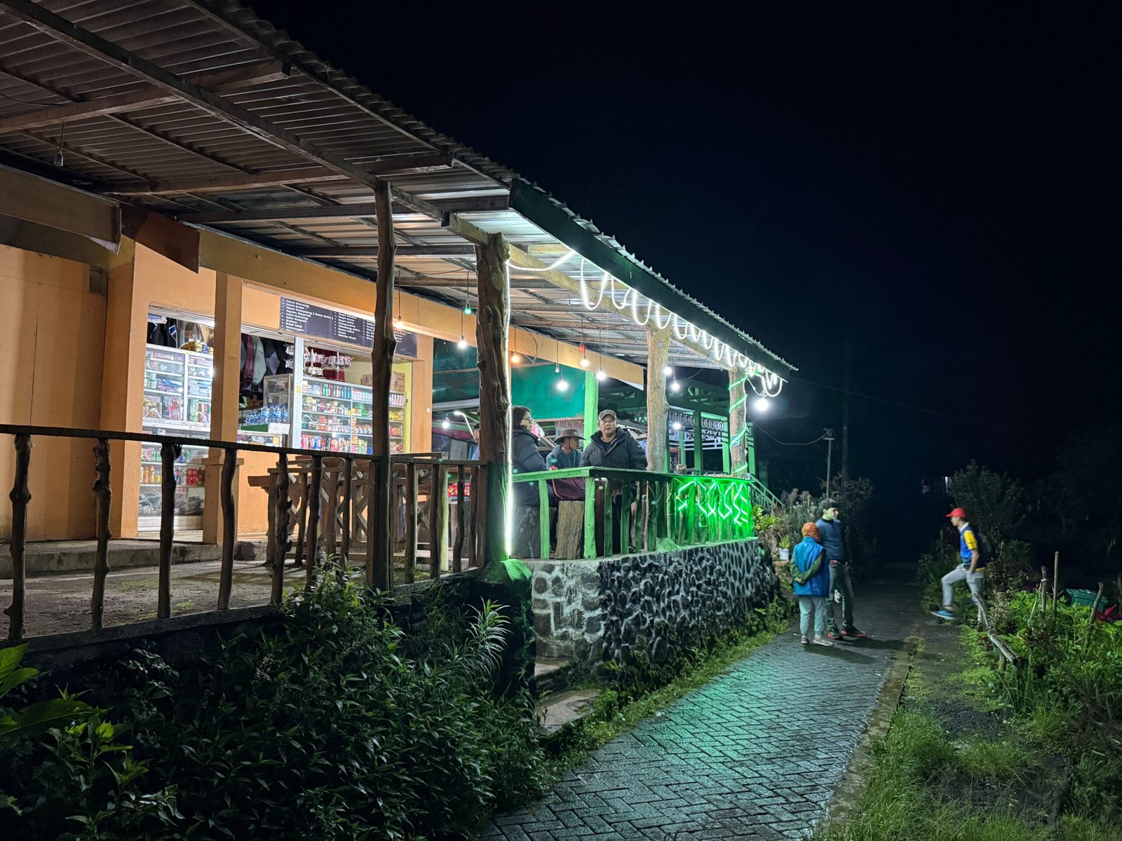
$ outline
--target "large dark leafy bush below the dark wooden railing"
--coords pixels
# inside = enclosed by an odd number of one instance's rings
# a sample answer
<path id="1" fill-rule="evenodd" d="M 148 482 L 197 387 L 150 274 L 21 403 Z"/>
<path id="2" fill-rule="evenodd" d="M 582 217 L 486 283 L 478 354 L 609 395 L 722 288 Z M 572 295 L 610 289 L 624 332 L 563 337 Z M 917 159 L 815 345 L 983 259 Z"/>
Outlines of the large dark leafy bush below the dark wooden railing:
<path id="1" fill-rule="evenodd" d="M 291 598 L 275 628 L 238 636 L 182 674 L 146 654 L 121 666 L 101 692 L 131 726 L 139 765 L 112 775 L 116 793 L 94 786 L 82 800 L 73 789 L 85 783 L 67 787 L 75 769 L 66 757 L 45 758 L 49 746 L 39 746 L 34 758 L 70 792 L 58 814 L 76 815 L 75 825 L 122 802 L 147 810 L 140 829 L 107 824 L 75 838 L 467 833 L 548 782 L 528 699 L 493 693 L 506 625 L 485 603 L 443 626 L 462 632 L 430 638 L 407 657 L 380 597 L 324 580 Z M 86 728 L 75 737 L 117 733 Z M 54 838 L 54 829 L 28 813 L 15 837 Z"/>

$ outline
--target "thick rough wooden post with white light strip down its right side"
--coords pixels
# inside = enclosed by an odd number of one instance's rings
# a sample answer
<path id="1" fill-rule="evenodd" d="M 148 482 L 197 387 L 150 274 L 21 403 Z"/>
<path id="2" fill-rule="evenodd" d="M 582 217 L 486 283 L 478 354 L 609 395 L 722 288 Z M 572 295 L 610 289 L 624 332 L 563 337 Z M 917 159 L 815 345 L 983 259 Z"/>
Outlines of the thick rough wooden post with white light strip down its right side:
<path id="1" fill-rule="evenodd" d="M 482 562 L 506 558 L 507 495 L 511 483 L 511 278 L 506 238 L 493 233 L 476 244 L 479 308 L 476 348 L 479 366 L 479 458 L 487 464 L 487 520 Z"/>

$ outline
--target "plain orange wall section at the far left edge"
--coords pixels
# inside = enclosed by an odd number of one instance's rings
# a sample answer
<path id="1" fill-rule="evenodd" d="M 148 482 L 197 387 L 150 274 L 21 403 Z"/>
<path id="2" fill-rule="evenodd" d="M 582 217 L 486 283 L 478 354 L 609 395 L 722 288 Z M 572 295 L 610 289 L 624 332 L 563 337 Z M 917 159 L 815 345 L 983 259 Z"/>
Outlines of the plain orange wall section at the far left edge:
<path id="1" fill-rule="evenodd" d="M 0 423 L 98 428 L 105 297 L 86 265 L 0 246 Z M 93 442 L 33 438 L 28 539 L 93 535 Z M 0 437 L 0 489 L 15 454 Z M 7 500 L 4 500 L 7 502 Z M 11 507 L 0 505 L 0 540 Z"/>

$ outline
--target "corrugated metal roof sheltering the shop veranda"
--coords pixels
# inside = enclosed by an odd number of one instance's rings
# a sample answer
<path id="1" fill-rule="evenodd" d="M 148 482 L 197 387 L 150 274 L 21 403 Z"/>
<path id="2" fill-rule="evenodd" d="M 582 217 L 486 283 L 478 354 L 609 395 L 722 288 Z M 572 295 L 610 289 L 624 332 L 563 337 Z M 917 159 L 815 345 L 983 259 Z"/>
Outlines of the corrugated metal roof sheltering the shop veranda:
<path id="1" fill-rule="evenodd" d="M 218 107 L 169 93 L 158 73 L 114 59 L 70 25 L 212 91 Z M 118 103 L 121 98 L 128 101 Z M 93 111 L 50 110 L 74 103 Z M 238 113 L 261 130 L 231 118 Z M 277 141 L 285 137 L 302 148 Z M 54 167 L 59 153 L 64 165 Z M 221 221 L 199 223 L 291 253 L 318 250 L 324 256 L 312 259 L 373 277 L 377 231 L 371 214 L 329 210 L 332 215 L 309 215 L 316 207 L 373 204 L 369 179 L 355 179 L 352 170 L 334 166 L 339 161 L 402 191 L 394 216 L 403 283 L 411 292 L 457 304 L 465 292 L 447 280 L 470 270 L 473 258 L 431 253 L 431 247 L 465 241 L 443 228 L 442 219 L 417 212 L 422 206 L 454 211 L 522 248 L 563 252 L 555 232 L 507 207 L 515 173 L 434 131 L 233 0 L 0 0 L 0 161 L 185 220 L 222 213 Z M 615 239 L 539 192 L 620 259 L 643 267 Z M 416 200 L 412 205 L 408 196 Z M 243 212 L 269 218 L 239 218 Z M 350 255 L 347 248 L 367 250 Z M 716 320 L 715 330 L 727 327 L 738 344 L 743 339 L 756 361 L 781 373 L 790 368 L 643 269 L 689 311 L 679 313 L 683 318 Z M 563 270 L 577 277 L 580 267 Z M 645 349 L 644 329 L 611 307 L 589 312 L 571 301 L 571 293 L 532 271 L 512 269 L 512 286 L 514 317 L 522 326 L 585 340 L 615 355 Z M 686 346 L 675 346 L 674 355 L 679 363 L 716 367 L 707 354 Z"/>

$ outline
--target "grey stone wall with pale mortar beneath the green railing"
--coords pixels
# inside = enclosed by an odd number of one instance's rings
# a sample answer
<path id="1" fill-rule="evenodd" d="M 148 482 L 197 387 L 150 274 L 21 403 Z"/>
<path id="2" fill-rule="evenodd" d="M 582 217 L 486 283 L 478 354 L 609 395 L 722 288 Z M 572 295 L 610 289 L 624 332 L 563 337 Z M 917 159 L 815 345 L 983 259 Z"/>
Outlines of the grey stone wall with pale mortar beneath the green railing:
<path id="1" fill-rule="evenodd" d="M 528 565 L 539 656 L 587 667 L 638 650 L 662 660 L 671 646 L 743 623 L 776 592 L 755 540 Z"/>

